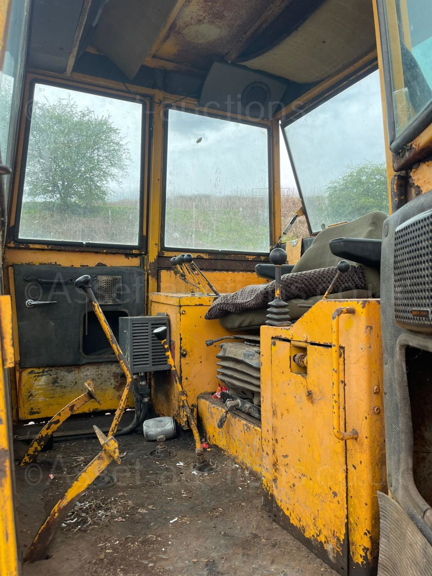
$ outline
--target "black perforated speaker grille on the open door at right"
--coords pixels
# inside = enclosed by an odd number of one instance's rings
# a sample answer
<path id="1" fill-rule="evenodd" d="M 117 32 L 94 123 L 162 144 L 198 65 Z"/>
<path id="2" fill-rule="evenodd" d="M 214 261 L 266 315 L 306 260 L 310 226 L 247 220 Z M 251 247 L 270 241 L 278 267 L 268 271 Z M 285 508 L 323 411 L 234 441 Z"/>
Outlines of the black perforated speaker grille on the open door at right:
<path id="1" fill-rule="evenodd" d="M 400 326 L 432 328 L 432 210 L 411 218 L 395 234 L 395 318 Z"/>

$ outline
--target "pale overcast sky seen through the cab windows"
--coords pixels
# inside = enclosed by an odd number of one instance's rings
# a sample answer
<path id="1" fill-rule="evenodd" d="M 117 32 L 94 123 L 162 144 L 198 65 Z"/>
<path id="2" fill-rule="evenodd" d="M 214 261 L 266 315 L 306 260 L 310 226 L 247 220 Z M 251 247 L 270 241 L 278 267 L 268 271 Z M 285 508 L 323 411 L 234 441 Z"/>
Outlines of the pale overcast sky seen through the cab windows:
<path id="1" fill-rule="evenodd" d="M 81 109 L 109 115 L 128 143 L 130 175 L 115 196 L 138 194 L 141 105 L 96 94 L 36 85 L 35 98 L 68 94 Z M 384 162 L 378 72 L 370 74 L 286 128 L 302 191 L 316 194 L 350 164 Z M 197 142 L 199 141 L 199 142 Z M 282 188 L 295 188 L 281 139 Z M 169 111 L 168 194 L 257 194 L 268 188 L 267 130 L 244 123 Z"/>

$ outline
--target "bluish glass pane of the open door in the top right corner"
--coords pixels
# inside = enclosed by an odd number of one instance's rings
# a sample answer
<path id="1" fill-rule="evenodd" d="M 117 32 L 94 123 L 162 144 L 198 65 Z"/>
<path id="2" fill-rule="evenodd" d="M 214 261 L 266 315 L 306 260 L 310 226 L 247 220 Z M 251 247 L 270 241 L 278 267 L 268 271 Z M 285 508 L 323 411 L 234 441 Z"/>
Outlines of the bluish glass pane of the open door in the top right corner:
<path id="1" fill-rule="evenodd" d="M 387 0 L 396 135 L 432 102 L 432 2 Z"/>

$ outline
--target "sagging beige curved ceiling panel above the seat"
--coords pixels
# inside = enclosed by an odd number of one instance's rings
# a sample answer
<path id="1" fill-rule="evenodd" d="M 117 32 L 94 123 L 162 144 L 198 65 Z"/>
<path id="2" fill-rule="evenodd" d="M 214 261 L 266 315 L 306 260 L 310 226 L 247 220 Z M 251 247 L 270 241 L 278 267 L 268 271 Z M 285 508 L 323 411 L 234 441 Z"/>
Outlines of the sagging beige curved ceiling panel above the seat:
<path id="1" fill-rule="evenodd" d="M 309 83 L 338 73 L 375 47 L 370 0 L 327 0 L 281 43 L 243 63 Z"/>

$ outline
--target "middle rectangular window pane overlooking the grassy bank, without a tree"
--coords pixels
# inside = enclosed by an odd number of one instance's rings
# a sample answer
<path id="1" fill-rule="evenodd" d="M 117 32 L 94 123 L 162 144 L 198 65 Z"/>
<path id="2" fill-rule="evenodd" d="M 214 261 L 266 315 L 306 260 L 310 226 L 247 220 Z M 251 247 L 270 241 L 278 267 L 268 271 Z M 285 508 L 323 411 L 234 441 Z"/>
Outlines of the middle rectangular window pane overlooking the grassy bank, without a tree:
<path id="1" fill-rule="evenodd" d="M 170 110 L 165 246 L 268 252 L 267 129 Z"/>

